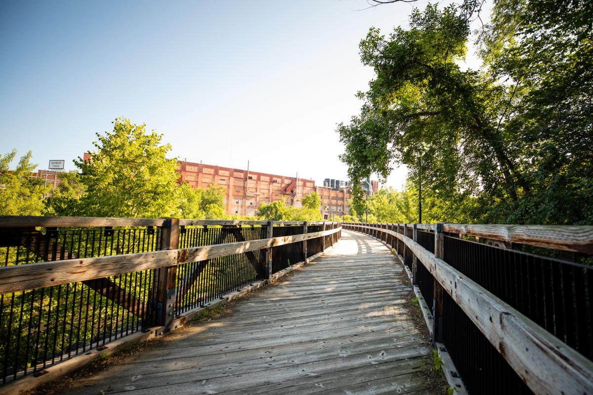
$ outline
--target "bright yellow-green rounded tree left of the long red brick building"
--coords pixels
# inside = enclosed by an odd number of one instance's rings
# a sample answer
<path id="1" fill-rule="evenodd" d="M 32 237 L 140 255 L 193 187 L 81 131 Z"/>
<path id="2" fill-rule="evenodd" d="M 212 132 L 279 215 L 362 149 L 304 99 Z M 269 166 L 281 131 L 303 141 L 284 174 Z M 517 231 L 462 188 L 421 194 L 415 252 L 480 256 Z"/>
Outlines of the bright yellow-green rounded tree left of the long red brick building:
<path id="1" fill-rule="evenodd" d="M 145 125 L 125 118 L 114 121 L 113 132 L 97 133 L 90 159 L 78 158 L 86 188 L 72 214 L 98 217 L 164 217 L 178 213 L 181 194 L 177 160 L 167 159 L 170 144 L 162 134 L 146 133 Z"/>

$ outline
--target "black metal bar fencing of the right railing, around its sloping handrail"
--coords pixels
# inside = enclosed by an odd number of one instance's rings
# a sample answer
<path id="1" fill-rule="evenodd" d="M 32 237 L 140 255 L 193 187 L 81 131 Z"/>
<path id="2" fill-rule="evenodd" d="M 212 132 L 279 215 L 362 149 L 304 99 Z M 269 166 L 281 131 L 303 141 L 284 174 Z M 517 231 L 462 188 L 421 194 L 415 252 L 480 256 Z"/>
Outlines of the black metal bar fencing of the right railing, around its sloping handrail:
<path id="1" fill-rule="evenodd" d="M 345 224 L 345 229 L 375 237 L 380 227 Z M 387 229 L 404 234 L 401 224 L 390 224 Z M 405 233 L 412 238 L 409 230 Z M 417 229 L 416 241 L 427 251 L 435 252 L 434 232 Z M 409 265 L 412 254 L 400 240 L 393 243 L 404 264 Z M 453 234 L 444 235 L 443 251 L 444 261 L 453 268 L 593 359 L 593 274 L 589 266 L 486 245 Z M 413 281 L 433 308 L 434 278 L 419 260 Z M 441 341 L 469 393 L 533 393 L 447 292 L 443 293 L 442 304 Z"/>

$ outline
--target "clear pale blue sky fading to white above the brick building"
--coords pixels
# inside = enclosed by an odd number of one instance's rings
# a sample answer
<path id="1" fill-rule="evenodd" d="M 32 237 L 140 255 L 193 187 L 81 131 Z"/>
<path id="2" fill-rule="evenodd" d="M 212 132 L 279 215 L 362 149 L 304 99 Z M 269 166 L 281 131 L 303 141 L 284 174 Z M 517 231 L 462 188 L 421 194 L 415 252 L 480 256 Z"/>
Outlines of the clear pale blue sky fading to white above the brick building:
<path id="1" fill-rule="evenodd" d="M 423 3 L 419 2 L 423 7 Z M 0 152 L 39 168 L 93 149 L 116 117 L 146 123 L 171 157 L 346 178 L 336 124 L 358 113 L 369 27 L 410 4 L 318 1 L 2 1 Z M 232 146 L 232 147 L 231 147 Z M 388 180 L 400 188 L 398 171 Z"/>

